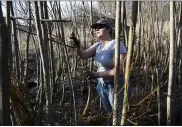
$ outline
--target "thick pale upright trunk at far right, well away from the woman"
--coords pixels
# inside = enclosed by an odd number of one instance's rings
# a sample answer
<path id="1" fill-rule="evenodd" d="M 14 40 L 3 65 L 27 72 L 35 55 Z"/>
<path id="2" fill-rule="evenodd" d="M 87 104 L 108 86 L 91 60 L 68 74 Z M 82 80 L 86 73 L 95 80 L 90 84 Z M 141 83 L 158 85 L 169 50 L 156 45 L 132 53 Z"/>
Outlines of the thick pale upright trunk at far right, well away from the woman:
<path id="1" fill-rule="evenodd" d="M 169 53 L 169 79 L 167 93 L 167 125 L 172 125 L 172 86 L 174 76 L 174 2 L 170 1 L 170 53 Z"/>

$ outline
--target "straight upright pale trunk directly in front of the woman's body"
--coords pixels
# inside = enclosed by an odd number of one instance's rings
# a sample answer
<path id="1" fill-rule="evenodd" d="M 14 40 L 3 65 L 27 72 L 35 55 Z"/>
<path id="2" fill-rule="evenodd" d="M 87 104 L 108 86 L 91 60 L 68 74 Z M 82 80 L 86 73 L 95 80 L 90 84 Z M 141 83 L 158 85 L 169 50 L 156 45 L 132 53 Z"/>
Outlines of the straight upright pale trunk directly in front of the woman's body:
<path id="1" fill-rule="evenodd" d="M 120 84 L 120 24 L 121 24 L 121 1 L 116 2 L 116 21 L 115 21 L 115 58 L 114 58 L 114 110 L 113 110 L 113 125 L 118 123 L 118 92 Z"/>

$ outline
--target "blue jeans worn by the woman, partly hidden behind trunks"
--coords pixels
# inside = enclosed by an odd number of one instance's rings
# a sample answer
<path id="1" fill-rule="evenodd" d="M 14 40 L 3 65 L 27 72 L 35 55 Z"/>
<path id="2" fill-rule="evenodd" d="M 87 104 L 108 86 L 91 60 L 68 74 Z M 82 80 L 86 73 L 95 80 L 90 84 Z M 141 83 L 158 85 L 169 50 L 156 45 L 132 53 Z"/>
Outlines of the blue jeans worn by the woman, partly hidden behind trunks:
<path id="1" fill-rule="evenodd" d="M 122 109 L 123 109 L 123 97 L 124 90 L 121 88 L 124 85 L 124 77 L 121 76 L 120 84 L 119 84 L 119 94 L 118 94 L 118 118 L 119 122 L 121 121 Z M 114 108 L 114 81 L 101 83 L 98 81 L 97 88 L 98 94 L 101 97 L 104 109 L 111 114 Z"/>

